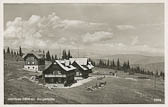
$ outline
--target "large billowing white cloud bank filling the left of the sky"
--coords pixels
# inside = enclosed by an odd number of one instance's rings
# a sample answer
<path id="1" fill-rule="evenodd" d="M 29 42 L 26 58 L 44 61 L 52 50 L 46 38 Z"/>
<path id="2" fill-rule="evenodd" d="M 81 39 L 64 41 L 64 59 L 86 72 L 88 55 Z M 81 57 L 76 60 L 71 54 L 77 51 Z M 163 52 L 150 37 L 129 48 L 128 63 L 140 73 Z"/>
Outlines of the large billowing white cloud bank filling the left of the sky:
<path id="1" fill-rule="evenodd" d="M 82 20 L 62 19 L 55 13 L 48 16 L 32 15 L 28 20 L 16 17 L 6 23 L 4 40 L 6 46 L 26 48 L 49 48 L 58 45 L 70 46 L 81 38 L 89 29 L 104 24 Z M 80 29 L 79 29 L 80 28 Z M 95 33 L 96 40 L 103 39 L 106 32 Z M 102 36 L 100 36 L 102 35 Z M 71 37 L 75 39 L 71 39 Z M 89 36 L 89 33 L 88 33 Z M 94 37 L 94 36 L 93 36 Z M 105 39 L 105 38 L 104 38 Z M 91 39 L 90 39 L 91 40 Z M 91 40 L 92 41 L 92 40 Z"/>

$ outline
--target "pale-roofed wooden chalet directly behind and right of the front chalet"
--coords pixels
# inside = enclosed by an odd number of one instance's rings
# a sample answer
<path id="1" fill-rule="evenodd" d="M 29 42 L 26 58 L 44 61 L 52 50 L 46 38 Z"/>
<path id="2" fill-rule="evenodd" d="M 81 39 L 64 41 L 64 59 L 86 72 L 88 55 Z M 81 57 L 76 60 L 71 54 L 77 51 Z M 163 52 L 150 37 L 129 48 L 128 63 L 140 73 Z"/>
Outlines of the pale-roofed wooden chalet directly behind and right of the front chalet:
<path id="1" fill-rule="evenodd" d="M 87 58 L 70 58 L 70 63 L 76 67 L 76 77 L 89 77 L 89 73 L 92 72 L 94 67 L 91 62 L 88 62 Z"/>

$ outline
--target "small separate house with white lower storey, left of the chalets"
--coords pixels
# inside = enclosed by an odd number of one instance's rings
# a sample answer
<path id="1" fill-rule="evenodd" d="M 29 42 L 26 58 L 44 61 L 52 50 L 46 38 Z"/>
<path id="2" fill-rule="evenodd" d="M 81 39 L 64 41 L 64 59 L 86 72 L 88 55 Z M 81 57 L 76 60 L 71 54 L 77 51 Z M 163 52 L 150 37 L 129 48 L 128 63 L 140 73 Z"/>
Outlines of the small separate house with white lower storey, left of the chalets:
<path id="1" fill-rule="evenodd" d="M 45 55 L 41 51 L 32 51 L 23 55 L 24 69 L 29 71 L 43 71 L 45 68 Z"/>

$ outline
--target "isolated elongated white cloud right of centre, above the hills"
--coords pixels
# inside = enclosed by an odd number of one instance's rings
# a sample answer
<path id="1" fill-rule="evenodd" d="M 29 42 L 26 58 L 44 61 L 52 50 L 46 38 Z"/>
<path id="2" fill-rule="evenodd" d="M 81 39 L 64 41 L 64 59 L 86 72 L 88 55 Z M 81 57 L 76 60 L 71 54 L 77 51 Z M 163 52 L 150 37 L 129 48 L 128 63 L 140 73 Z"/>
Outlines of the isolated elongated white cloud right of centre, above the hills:
<path id="1" fill-rule="evenodd" d="M 104 32 L 104 31 L 95 32 L 93 34 L 86 33 L 83 36 L 83 42 L 89 43 L 89 42 L 106 41 L 106 40 L 111 39 L 112 36 L 113 36 L 113 33 L 111 33 L 111 32 Z"/>

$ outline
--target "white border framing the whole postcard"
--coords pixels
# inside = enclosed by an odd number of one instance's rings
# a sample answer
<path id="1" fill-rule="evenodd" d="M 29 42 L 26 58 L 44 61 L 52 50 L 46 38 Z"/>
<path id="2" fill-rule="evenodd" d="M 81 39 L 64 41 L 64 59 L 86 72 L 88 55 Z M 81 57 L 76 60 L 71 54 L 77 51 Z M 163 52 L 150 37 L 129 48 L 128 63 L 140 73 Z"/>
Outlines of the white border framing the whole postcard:
<path id="1" fill-rule="evenodd" d="M 117 106 L 117 107 L 140 107 L 140 106 L 152 106 L 152 107 L 166 107 L 168 106 L 168 37 L 166 36 L 168 34 L 168 15 L 167 15 L 167 9 L 168 9 L 168 1 L 167 0 L 1 0 L 0 1 L 0 107 L 2 106 L 15 106 L 15 107 L 46 107 L 46 106 L 52 106 L 52 107 L 73 107 L 73 106 L 99 106 L 99 107 L 105 107 L 105 106 Z M 165 3 L 165 104 L 9 104 L 4 105 L 4 77 L 3 77 L 3 3 Z"/>

